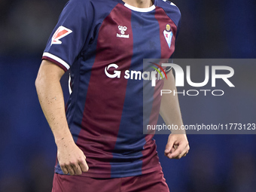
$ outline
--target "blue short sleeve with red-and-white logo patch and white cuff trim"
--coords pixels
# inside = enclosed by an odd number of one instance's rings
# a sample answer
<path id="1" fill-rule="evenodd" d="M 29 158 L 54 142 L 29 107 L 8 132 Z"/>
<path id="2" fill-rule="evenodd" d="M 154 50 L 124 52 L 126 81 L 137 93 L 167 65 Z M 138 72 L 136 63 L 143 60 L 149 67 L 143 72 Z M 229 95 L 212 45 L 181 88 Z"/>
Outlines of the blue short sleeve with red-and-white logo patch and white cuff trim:
<path id="1" fill-rule="evenodd" d="M 65 72 L 81 53 L 92 25 L 89 0 L 70 0 L 59 16 L 42 59 L 50 60 Z"/>

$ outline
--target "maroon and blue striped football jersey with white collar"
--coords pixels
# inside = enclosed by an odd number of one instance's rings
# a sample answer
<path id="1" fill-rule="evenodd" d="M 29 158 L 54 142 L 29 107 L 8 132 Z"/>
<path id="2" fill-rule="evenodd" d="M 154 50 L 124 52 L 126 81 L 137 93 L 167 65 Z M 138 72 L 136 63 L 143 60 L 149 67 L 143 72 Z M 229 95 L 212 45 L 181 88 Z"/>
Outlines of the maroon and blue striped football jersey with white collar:
<path id="1" fill-rule="evenodd" d="M 119 178 L 161 169 L 154 135 L 143 134 L 143 126 L 157 123 L 163 81 L 144 93 L 143 59 L 172 57 L 180 19 L 178 8 L 163 0 L 150 8 L 122 0 L 70 0 L 63 9 L 43 59 L 70 72 L 66 118 L 87 157 L 84 176 Z M 63 174 L 58 163 L 55 172 Z"/>

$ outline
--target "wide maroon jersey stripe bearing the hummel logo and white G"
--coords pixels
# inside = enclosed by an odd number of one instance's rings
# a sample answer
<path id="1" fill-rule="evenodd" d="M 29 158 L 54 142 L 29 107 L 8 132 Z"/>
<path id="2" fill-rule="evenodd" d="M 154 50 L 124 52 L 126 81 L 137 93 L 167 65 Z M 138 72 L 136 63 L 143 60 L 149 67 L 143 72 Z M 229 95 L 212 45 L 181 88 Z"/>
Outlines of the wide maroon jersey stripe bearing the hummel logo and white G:
<path id="1" fill-rule="evenodd" d="M 112 151 L 117 141 L 123 103 L 126 93 L 126 78 L 108 78 L 105 68 L 114 63 L 118 69 L 109 69 L 124 72 L 130 68 L 133 56 L 133 32 L 130 14 L 123 15 L 123 5 L 117 5 L 108 17 L 102 22 L 99 29 L 96 47 L 96 59 L 91 69 L 90 82 L 87 90 L 87 99 L 84 106 L 82 127 L 78 136 L 77 145 L 83 149 L 90 167 L 86 175 L 93 177 L 97 174 L 111 175 Z M 126 11 L 127 13 L 127 11 Z M 124 24 L 125 23 L 125 24 Z M 126 26 L 129 38 L 119 38 L 119 26 Z M 111 71 L 112 70 L 112 71 Z M 96 163 L 102 162 L 102 165 Z M 101 171 L 97 172 L 97 166 Z M 99 170 L 99 169 L 97 169 Z M 109 174 L 109 175 L 108 175 Z"/>

